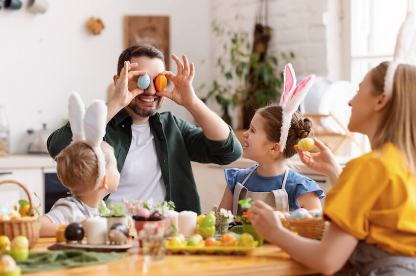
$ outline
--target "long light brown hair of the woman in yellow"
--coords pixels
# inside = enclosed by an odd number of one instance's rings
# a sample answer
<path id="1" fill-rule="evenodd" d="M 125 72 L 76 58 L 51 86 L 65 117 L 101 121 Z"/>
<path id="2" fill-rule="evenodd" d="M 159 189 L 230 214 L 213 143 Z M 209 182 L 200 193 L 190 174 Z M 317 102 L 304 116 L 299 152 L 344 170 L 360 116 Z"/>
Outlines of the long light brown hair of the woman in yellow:
<path id="1" fill-rule="evenodd" d="M 374 93 L 384 91 L 384 77 L 389 62 L 371 69 Z M 373 149 L 393 143 L 404 155 L 408 170 L 416 173 L 416 67 L 400 64 L 393 80 L 393 92 L 372 141 Z"/>

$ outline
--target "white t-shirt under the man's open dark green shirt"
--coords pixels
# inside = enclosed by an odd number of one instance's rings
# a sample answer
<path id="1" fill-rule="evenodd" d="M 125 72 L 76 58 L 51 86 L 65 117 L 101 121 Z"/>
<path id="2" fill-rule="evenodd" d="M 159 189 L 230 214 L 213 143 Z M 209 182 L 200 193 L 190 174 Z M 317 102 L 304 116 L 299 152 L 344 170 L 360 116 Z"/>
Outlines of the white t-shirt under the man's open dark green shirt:
<path id="1" fill-rule="evenodd" d="M 123 199 L 131 201 L 152 198 L 158 204 L 165 196 L 166 187 L 150 125 L 133 124 L 132 142 L 120 172 L 120 183 L 117 191 L 110 195 L 110 200 L 121 204 Z"/>

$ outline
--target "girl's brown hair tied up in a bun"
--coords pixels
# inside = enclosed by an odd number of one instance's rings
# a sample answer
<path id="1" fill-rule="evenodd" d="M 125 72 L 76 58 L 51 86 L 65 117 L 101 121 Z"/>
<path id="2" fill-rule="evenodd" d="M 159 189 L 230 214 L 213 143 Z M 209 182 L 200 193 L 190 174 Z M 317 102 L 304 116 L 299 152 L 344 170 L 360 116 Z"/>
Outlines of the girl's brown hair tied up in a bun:
<path id="1" fill-rule="evenodd" d="M 269 105 L 260 108 L 256 111 L 267 123 L 264 125 L 267 137 L 273 142 L 279 142 L 280 129 L 282 122 L 282 107 L 276 104 Z M 298 144 L 300 139 L 309 136 L 312 128 L 312 121 L 309 118 L 303 117 L 303 115 L 297 111 L 292 115 L 290 122 L 289 135 L 287 137 L 286 149 L 284 150 L 284 157 L 290 158 L 295 155 L 296 151 L 294 146 Z"/>

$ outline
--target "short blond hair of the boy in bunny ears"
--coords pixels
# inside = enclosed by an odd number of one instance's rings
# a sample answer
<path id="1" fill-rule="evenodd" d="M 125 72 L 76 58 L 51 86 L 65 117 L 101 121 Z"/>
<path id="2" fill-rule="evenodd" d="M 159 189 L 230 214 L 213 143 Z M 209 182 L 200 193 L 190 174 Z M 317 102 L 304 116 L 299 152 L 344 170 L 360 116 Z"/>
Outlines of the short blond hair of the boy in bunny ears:
<path id="1" fill-rule="evenodd" d="M 103 148 L 111 147 L 102 141 Z M 112 148 L 112 147 L 111 147 Z M 104 151 L 106 160 L 108 153 Z M 92 188 L 98 177 L 97 157 L 91 146 L 84 142 L 72 142 L 56 157 L 56 173 L 62 184 L 74 194 Z"/>

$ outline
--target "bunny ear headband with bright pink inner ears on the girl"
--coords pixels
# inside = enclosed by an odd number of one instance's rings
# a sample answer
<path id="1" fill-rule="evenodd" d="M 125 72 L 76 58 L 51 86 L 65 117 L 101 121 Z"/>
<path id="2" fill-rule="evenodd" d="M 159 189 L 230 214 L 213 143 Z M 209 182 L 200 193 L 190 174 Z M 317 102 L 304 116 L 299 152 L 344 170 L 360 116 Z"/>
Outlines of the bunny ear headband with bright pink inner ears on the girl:
<path id="1" fill-rule="evenodd" d="M 292 115 L 298 109 L 300 102 L 311 88 L 315 75 L 307 76 L 298 86 L 296 86 L 295 71 L 290 63 L 284 68 L 284 92 L 280 98 L 279 105 L 282 107 L 282 126 L 280 128 L 279 144 L 281 152 L 286 148 L 287 136 L 289 135 L 290 122 Z"/>

